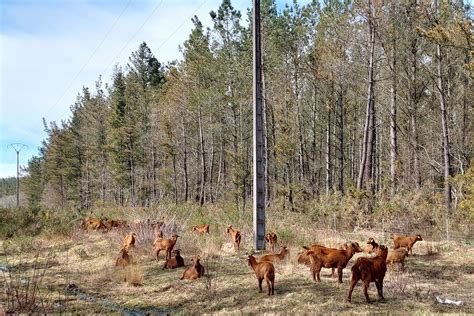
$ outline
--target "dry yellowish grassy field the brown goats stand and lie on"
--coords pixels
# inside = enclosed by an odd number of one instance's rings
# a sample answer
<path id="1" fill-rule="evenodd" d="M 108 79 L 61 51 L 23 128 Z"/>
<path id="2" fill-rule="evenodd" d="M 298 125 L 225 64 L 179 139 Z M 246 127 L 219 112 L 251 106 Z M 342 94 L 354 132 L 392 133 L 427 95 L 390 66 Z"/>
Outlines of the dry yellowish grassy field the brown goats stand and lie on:
<path id="1" fill-rule="evenodd" d="M 154 214 L 160 218 L 161 214 Z M 125 215 L 124 215 L 125 216 Z M 474 245 L 472 242 L 439 242 L 425 238 L 414 247 L 415 256 L 406 261 L 405 273 L 390 269 L 384 282 L 385 301 L 378 301 L 375 285 L 366 304 L 360 284 L 352 303 L 346 301 L 350 267 L 344 270 L 344 282 L 331 278 L 330 270 L 321 272 L 322 282 L 310 277 L 309 268 L 298 265 L 296 257 L 301 245 L 313 242 L 337 246 L 346 241 L 363 245 L 368 237 L 391 246 L 389 234 L 358 230 L 339 232 L 311 229 L 303 215 L 286 218 L 290 225 L 278 227 L 280 240 L 290 248 L 288 260 L 275 265 L 275 295 L 258 293 L 257 280 L 246 262 L 252 250 L 251 229 L 245 219 L 235 219 L 242 228 L 243 245 L 235 254 L 225 236 L 224 220 L 211 222 L 209 236 L 196 236 L 191 226 L 199 218 L 178 220 L 168 214 L 165 235 L 178 232 L 177 248 L 189 265 L 192 255 L 200 255 L 206 276 L 198 281 L 180 280 L 184 268 L 162 270 L 164 254 L 157 262 L 151 252 L 152 233 L 136 228 L 137 247 L 131 250 L 134 265 L 126 269 L 114 267 L 122 237 L 134 228 L 116 229 L 108 233 L 85 232 L 79 227 L 67 235 L 39 235 L 13 238 L 0 245 L 0 278 L 2 288 L 18 286 L 19 294 L 2 291 L 3 309 L 14 301 L 28 301 L 32 307 L 46 312 L 70 313 L 474 313 Z M 138 216 L 140 217 L 140 216 Z M 204 216 L 205 218 L 206 216 Z M 227 220 L 227 219 L 226 219 Z M 237 225 L 241 223 L 242 226 Z M 272 225 L 272 223 L 270 223 Z M 271 228 L 271 227 L 270 227 Z M 33 287 L 37 289 L 33 291 Z M 23 290 L 22 290 L 23 289 Z M 34 294 L 33 294 L 34 292 Z M 462 301 L 460 306 L 440 304 L 436 296 Z M 9 303 L 6 303 L 9 302 Z M 25 303 L 25 305 L 28 305 Z M 31 306 L 30 306 L 31 307 Z M 25 307 L 25 310 L 27 308 Z M 1 314 L 1 312 L 0 312 Z"/>

